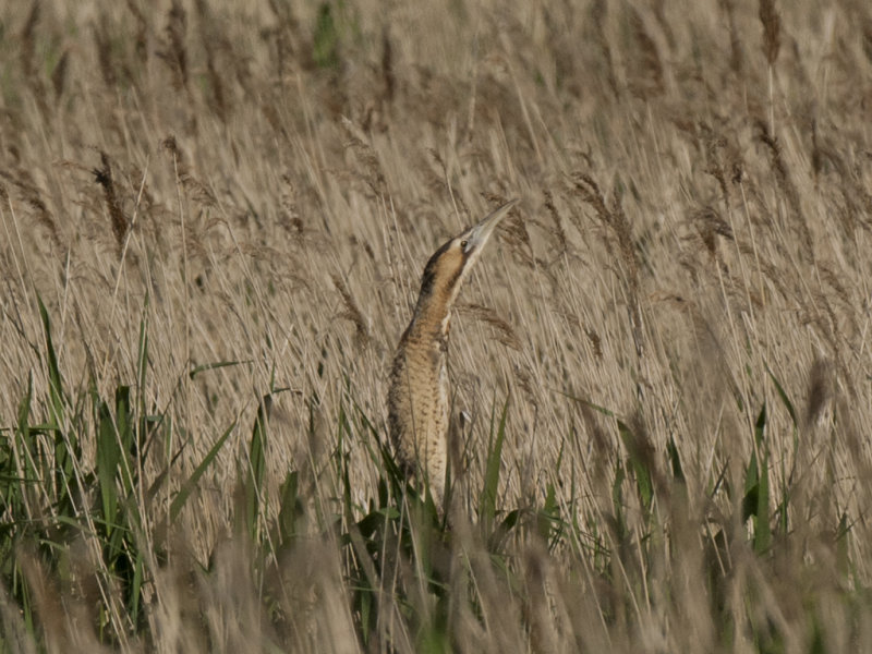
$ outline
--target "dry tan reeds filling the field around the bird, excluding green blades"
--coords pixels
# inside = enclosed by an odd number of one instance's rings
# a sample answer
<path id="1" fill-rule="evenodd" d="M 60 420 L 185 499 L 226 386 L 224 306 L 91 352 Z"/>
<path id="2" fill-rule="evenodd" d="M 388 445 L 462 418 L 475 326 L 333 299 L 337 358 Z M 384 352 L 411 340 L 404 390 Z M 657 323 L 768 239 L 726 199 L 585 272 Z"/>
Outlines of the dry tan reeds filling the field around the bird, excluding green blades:
<path id="1" fill-rule="evenodd" d="M 131 386 L 159 416 L 140 433 L 138 621 L 73 493 L 64 564 L 4 548 L 0 651 L 872 649 L 867 3 L 296 4 L 0 9 L 3 451 L 31 392 L 32 425 L 60 419 L 34 438 L 75 428 L 52 413 L 37 298 L 70 398 Z M 516 195 L 451 374 L 458 514 L 507 401 L 496 507 L 526 510 L 506 577 L 456 518 L 441 615 L 426 570 L 389 538 L 366 568 L 352 528 L 384 480 L 423 264 Z M 0 460 L 0 537 L 63 512 L 50 479 L 13 506 L 19 460 Z M 742 520 L 752 464 L 765 529 Z M 294 545 L 262 556 L 245 480 L 269 543 L 289 471 Z M 374 632 L 355 570 L 379 586 Z"/>

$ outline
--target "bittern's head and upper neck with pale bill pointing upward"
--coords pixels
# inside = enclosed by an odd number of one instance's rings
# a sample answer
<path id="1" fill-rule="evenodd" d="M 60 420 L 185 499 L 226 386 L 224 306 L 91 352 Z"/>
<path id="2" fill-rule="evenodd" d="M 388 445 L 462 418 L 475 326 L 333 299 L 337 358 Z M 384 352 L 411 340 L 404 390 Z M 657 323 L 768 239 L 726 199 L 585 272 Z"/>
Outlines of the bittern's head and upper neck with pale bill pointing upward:
<path id="1" fill-rule="evenodd" d="M 496 208 L 479 225 L 458 234 L 439 247 L 427 262 L 421 278 L 421 295 L 417 299 L 416 314 L 434 307 L 447 314 L 457 299 L 463 279 L 482 255 L 482 250 L 494 233 L 497 225 L 518 204 L 511 199 Z M 447 331 L 447 324 L 443 328 Z"/>

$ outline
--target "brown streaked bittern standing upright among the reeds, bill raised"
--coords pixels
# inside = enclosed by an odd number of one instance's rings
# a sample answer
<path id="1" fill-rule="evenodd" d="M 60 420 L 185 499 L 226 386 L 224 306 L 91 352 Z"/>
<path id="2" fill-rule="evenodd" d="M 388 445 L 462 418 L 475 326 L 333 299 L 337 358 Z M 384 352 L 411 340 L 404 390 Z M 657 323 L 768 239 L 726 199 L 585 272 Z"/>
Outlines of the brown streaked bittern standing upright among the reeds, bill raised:
<path id="1" fill-rule="evenodd" d="M 448 331 L 463 279 L 497 223 L 518 199 L 507 202 L 475 227 L 439 247 L 421 278 L 417 304 L 393 358 L 388 391 L 390 439 L 403 472 L 426 480 L 441 508 L 448 467 Z"/>

